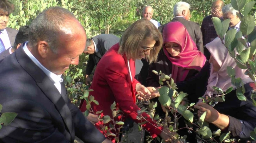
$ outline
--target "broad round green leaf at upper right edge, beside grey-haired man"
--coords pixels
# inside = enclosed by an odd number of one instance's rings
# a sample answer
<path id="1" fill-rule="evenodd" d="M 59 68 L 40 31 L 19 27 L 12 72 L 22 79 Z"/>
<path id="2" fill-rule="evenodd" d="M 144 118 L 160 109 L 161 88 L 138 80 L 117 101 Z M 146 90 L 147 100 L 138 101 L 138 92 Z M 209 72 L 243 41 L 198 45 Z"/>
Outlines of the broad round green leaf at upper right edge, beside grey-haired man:
<path id="1" fill-rule="evenodd" d="M 244 35 L 249 35 L 253 31 L 255 27 L 254 20 L 255 20 L 254 17 L 251 15 L 246 16 L 245 18 L 242 19 L 240 23 L 240 30 Z"/>

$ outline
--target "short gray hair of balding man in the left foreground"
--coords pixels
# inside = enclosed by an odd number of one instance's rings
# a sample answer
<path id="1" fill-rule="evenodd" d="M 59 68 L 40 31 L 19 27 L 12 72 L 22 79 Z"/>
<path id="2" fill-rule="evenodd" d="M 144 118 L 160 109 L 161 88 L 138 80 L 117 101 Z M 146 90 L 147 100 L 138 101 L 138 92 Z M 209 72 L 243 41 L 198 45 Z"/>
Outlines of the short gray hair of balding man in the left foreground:
<path id="1" fill-rule="evenodd" d="M 67 20 L 71 19 L 76 18 L 72 12 L 65 8 L 51 7 L 44 10 L 37 15 L 30 25 L 29 43 L 35 47 L 38 41 L 46 41 L 50 49 L 57 53 L 57 48 L 61 42 L 59 35 L 63 33 L 61 28 L 65 26 Z"/>

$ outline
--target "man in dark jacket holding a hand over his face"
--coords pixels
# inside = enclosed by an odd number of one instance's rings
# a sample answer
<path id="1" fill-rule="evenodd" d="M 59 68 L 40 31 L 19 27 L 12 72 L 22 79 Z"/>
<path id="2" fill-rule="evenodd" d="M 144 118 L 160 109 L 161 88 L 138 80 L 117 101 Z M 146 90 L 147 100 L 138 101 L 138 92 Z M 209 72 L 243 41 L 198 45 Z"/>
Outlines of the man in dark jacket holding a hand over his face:
<path id="1" fill-rule="evenodd" d="M 209 42 L 212 42 L 215 38 L 218 37 L 217 32 L 214 28 L 212 17 L 217 17 L 221 20 L 223 20 L 223 13 L 222 8 L 224 7 L 224 2 L 221 0 L 214 1 L 212 3 L 212 14 L 206 16 L 203 19 L 201 31 L 203 34 L 203 45 L 205 47 L 206 44 Z M 204 54 L 207 60 L 210 59 L 211 53 L 208 51 L 207 48 L 204 48 Z"/>

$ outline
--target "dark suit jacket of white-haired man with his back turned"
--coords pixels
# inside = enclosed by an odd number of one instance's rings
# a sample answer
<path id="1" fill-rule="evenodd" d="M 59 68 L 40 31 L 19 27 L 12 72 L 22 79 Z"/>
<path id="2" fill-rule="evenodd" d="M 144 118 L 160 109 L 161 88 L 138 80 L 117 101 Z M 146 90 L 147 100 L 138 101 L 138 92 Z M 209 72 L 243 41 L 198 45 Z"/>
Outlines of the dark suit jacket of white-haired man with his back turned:
<path id="1" fill-rule="evenodd" d="M 173 18 L 172 21 L 170 22 L 175 22 L 175 21 L 181 22 L 186 27 L 190 37 L 196 43 L 197 49 L 203 53 L 203 37 L 202 37 L 200 25 L 196 22 L 185 20 L 185 18 L 182 18 L 182 17 Z M 165 23 L 164 25 L 161 25 L 160 27 L 158 27 L 161 33 L 163 33 L 164 27 L 168 23 Z"/>

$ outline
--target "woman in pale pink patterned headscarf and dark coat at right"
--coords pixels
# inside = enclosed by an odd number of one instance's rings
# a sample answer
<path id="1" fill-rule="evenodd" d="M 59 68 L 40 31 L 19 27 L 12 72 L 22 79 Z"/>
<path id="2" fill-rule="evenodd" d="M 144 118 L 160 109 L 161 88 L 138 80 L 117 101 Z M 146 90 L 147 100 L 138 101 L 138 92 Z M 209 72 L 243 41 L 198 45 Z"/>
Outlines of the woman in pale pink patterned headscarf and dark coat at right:
<path id="1" fill-rule="evenodd" d="M 251 99 L 251 94 L 254 91 L 250 86 L 254 82 L 245 75 L 245 69 L 240 69 L 237 66 L 219 38 L 208 43 L 206 48 L 211 53 L 209 63 L 207 62 L 200 73 L 193 78 L 176 83 L 178 91 L 188 93 L 188 98 L 194 100 L 192 102 L 197 102 L 198 97 L 218 94 L 212 88 L 213 86 L 223 89 L 224 93 L 229 87 L 233 87 L 233 90 L 225 95 L 225 102 L 215 103 L 212 105 L 213 107 L 205 103 L 197 103 L 194 107 L 199 109 L 197 111 L 199 117 L 206 111 L 205 121 L 209 123 L 209 128 L 212 131 L 218 129 L 222 133 L 230 131 L 231 138 L 243 141 L 251 140 L 250 132 L 256 127 L 256 107 L 252 104 Z M 240 101 L 237 98 L 236 87 L 231 83 L 227 67 L 232 67 L 235 70 L 235 77 L 243 81 L 244 96 L 250 102 Z"/>

